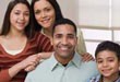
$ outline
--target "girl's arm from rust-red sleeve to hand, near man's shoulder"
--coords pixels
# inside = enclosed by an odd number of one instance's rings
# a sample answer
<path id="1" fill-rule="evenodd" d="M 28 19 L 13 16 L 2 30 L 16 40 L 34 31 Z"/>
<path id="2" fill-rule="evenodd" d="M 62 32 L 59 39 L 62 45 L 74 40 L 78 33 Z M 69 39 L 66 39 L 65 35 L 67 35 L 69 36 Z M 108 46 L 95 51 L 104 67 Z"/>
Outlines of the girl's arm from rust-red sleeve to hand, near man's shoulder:
<path id="1" fill-rule="evenodd" d="M 13 67 L 7 70 L 0 70 L 0 82 L 9 82 L 12 78 L 14 78 L 22 69 L 25 69 L 27 66 L 36 66 L 39 61 L 37 55 L 33 55 L 24 59 L 23 61 L 14 65 Z"/>

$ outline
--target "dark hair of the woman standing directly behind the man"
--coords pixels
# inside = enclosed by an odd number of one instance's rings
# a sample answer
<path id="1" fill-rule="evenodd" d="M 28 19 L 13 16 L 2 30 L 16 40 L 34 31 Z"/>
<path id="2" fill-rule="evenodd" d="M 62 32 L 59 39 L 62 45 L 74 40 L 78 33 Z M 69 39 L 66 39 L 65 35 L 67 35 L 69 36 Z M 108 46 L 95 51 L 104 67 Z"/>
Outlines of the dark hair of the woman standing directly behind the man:
<path id="1" fill-rule="evenodd" d="M 36 19 L 35 19 L 35 14 L 34 14 L 34 5 L 35 5 L 35 2 L 37 2 L 39 0 L 32 0 L 32 17 L 33 17 L 33 23 L 34 23 L 34 27 L 36 31 L 40 31 L 41 30 L 41 26 L 37 23 Z M 59 19 L 62 19 L 63 15 L 61 13 L 61 9 L 60 9 L 60 5 L 58 4 L 57 0 L 46 0 L 48 1 L 55 9 L 55 12 L 56 12 L 56 21 L 59 20 Z"/>

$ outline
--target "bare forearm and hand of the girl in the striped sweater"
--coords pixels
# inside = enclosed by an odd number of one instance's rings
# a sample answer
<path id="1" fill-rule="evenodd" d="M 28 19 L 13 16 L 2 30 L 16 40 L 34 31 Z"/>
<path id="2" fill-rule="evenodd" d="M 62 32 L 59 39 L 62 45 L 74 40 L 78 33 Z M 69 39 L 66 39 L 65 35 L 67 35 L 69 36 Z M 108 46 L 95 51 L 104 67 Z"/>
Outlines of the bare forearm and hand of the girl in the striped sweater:
<path id="1" fill-rule="evenodd" d="M 33 55 L 27 57 L 26 59 L 24 59 L 23 61 L 14 65 L 13 67 L 11 67 L 9 69 L 9 74 L 11 77 L 11 79 L 16 75 L 21 70 L 25 69 L 28 66 L 36 66 L 38 65 L 40 60 L 40 56 L 39 55 Z M 31 67 L 32 69 L 34 69 L 34 67 Z"/>

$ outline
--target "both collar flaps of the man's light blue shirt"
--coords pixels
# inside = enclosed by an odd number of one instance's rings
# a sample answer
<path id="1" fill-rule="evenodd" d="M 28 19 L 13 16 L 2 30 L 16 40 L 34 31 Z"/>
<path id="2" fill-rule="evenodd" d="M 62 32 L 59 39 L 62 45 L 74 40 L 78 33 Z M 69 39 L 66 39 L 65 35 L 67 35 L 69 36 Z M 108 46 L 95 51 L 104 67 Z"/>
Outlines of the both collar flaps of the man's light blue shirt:
<path id="1" fill-rule="evenodd" d="M 73 59 L 68 63 L 67 67 L 75 66 L 76 68 L 80 68 L 81 62 L 82 62 L 82 57 L 77 52 L 75 52 Z M 55 58 L 55 52 L 53 52 L 52 56 L 50 57 L 51 71 L 53 71 L 58 66 L 63 67 L 60 62 L 57 61 L 57 59 Z"/>

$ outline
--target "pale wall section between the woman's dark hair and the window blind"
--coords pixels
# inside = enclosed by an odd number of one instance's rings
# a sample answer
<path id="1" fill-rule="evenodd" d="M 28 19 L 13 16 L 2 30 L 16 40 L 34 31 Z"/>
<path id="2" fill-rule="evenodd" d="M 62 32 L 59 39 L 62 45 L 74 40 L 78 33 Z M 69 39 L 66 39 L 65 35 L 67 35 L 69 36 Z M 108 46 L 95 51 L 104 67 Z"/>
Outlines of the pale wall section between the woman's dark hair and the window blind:
<path id="1" fill-rule="evenodd" d="M 64 17 L 79 24 L 79 0 L 57 0 Z"/>

